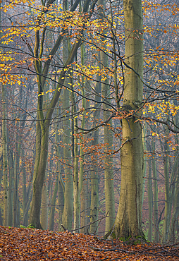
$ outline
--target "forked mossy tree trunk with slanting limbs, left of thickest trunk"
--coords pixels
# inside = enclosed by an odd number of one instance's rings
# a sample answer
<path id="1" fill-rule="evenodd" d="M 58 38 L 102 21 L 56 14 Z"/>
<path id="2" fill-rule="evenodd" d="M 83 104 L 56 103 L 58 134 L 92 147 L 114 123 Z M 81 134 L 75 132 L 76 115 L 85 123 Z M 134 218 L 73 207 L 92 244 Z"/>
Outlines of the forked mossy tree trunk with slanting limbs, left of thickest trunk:
<path id="1" fill-rule="evenodd" d="M 46 4 L 46 10 L 48 10 L 49 6 L 54 1 L 48 1 Z M 77 8 L 79 4 L 79 0 L 76 0 L 73 6 L 70 8 L 70 12 L 75 11 L 75 8 Z M 83 6 L 82 13 L 87 13 L 87 10 L 90 6 L 90 0 L 86 0 Z M 90 14 L 92 13 L 92 10 L 94 9 L 95 1 L 92 4 L 90 8 Z M 46 12 L 46 11 L 45 11 Z M 89 16 L 90 16 L 89 14 Z M 37 19 L 37 26 L 40 25 L 42 16 L 44 15 L 44 11 L 39 15 Z M 72 49 L 70 50 L 70 53 L 68 55 L 68 58 L 66 59 L 66 62 L 64 63 L 64 67 L 61 71 L 61 74 L 58 78 L 58 84 L 56 85 L 56 91 L 54 92 L 54 95 L 51 99 L 51 102 L 49 104 L 49 107 L 47 108 L 46 115 L 44 115 L 43 112 L 43 95 L 42 92 L 44 91 L 44 84 L 47 79 L 47 73 L 49 71 L 49 66 L 51 63 L 51 57 L 56 54 L 56 51 L 58 47 L 60 46 L 62 40 L 63 40 L 63 33 L 65 32 L 64 29 L 62 29 L 62 33 L 58 36 L 54 47 L 51 49 L 49 53 L 49 59 L 44 63 L 44 68 L 42 69 L 42 62 L 40 59 L 42 58 L 43 53 L 43 44 L 44 44 L 44 32 L 46 30 L 46 27 L 43 29 L 42 32 L 42 39 L 41 44 L 39 40 L 39 29 L 35 32 L 35 49 L 34 49 L 34 55 L 36 57 L 35 60 L 35 69 L 37 71 L 37 79 L 38 79 L 38 88 L 39 88 L 39 97 L 38 97 L 38 114 L 37 114 L 37 138 L 36 138 L 36 158 L 35 158 L 35 170 L 34 170 L 34 178 L 33 178 L 33 196 L 32 196 L 32 206 L 30 210 L 30 224 L 34 224 L 36 228 L 42 228 L 40 221 L 39 221 L 39 215 L 40 215 L 40 205 L 41 205 L 41 199 L 42 199 L 42 186 L 44 183 L 44 176 L 45 176 L 45 169 L 46 169 L 46 163 L 47 163 L 47 154 L 48 154 L 48 137 L 49 137 L 49 126 L 51 122 L 51 116 L 53 114 L 54 108 L 56 107 L 56 103 L 58 102 L 58 98 L 61 94 L 61 90 L 63 87 L 63 83 L 66 76 L 66 67 L 73 62 L 73 59 L 75 57 L 75 54 L 78 51 L 78 48 L 80 47 L 81 41 L 76 40 L 73 44 Z M 82 31 L 80 32 L 82 34 Z M 68 71 L 67 71 L 68 73 Z M 66 204 L 66 203 L 65 203 Z"/>

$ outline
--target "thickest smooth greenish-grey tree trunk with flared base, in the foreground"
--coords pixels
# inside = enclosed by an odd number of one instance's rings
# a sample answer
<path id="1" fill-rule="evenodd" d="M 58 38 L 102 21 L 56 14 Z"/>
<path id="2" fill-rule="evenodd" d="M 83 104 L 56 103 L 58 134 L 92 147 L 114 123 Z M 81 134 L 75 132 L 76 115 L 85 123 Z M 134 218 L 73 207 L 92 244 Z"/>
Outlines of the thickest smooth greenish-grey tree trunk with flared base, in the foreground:
<path id="1" fill-rule="evenodd" d="M 123 111 L 139 109 L 142 102 L 143 75 L 142 2 L 124 0 L 125 16 L 125 88 Z M 128 68 L 130 66 L 130 68 Z M 141 113 L 141 112 L 140 112 Z M 137 112 L 137 114 L 140 114 Z M 142 233 L 143 146 L 142 126 L 137 116 L 123 119 L 121 149 L 121 195 L 114 232 L 117 238 L 135 238 Z"/>

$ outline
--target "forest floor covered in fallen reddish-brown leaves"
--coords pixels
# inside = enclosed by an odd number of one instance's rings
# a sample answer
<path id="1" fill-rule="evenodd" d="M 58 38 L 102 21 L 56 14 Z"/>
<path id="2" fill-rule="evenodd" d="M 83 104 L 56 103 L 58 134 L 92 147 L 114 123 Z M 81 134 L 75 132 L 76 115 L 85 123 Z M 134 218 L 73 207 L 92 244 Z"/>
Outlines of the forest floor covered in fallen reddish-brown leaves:
<path id="1" fill-rule="evenodd" d="M 0 260 L 179 260 L 179 242 L 128 245 L 82 233 L 0 226 Z"/>

